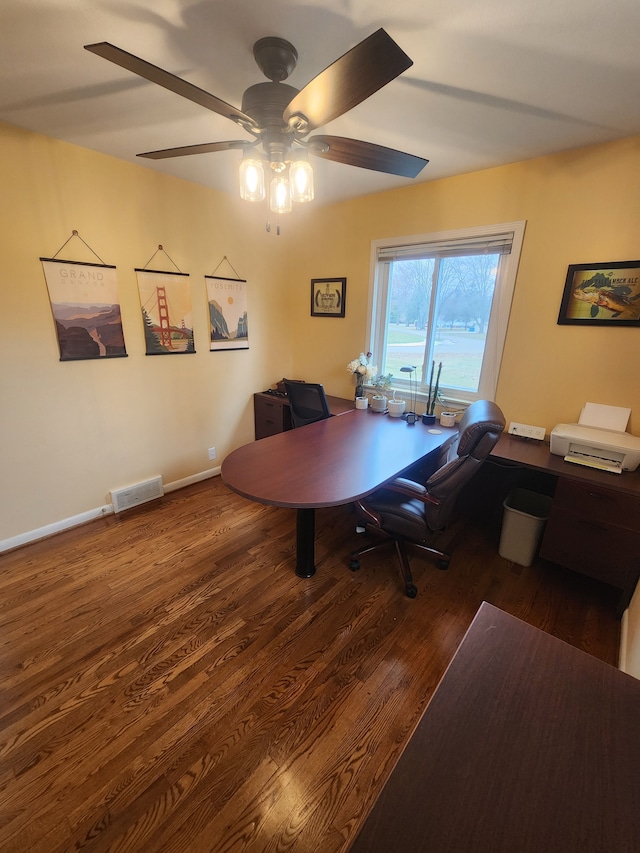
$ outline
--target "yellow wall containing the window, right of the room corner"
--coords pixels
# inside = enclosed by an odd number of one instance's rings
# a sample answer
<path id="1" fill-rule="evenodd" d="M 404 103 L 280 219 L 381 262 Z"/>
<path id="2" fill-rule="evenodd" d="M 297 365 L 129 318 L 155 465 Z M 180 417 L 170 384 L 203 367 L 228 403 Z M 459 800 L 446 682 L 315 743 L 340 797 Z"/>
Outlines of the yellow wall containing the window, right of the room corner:
<path id="1" fill-rule="evenodd" d="M 372 240 L 516 220 L 527 225 L 497 391 L 507 421 L 549 431 L 591 401 L 631 407 L 640 434 L 640 329 L 557 325 L 569 264 L 640 258 L 637 137 L 296 217 L 296 374 L 353 392 L 345 366 L 367 343 Z M 347 277 L 344 320 L 309 316 L 309 279 L 322 276 Z"/>

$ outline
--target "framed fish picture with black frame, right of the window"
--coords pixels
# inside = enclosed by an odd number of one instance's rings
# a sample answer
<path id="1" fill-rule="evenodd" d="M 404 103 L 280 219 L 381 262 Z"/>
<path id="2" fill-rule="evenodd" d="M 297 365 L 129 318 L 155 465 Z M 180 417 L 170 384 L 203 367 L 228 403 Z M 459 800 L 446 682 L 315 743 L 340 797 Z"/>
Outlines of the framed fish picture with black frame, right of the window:
<path id="1" fill-rule="evenodd" d="M 558 323 L 640 326 L 640 261 L 572 264 Z"/>

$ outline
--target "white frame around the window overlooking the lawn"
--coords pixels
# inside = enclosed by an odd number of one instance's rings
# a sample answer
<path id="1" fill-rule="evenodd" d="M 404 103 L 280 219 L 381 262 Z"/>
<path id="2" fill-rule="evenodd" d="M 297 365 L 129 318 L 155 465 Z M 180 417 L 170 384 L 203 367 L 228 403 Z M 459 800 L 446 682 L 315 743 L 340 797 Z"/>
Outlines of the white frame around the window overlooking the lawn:
<path id="1" fill-rule="evenodd" d="M 370 286 L 369 286 L 369 331 L 367 350 L 372 355 L 374 364 L 382 364 L 382 354 L 385 344 L 387 330 L 388 311 L 388 275 L 381 274 L 383 261 L 379 260 L 382 249 L 398 248 L 406 250 L 412 246 L 427 247 L 429 244 L 442 245 L 443 243 L 468 242 L 470 240 L 486 238 L 489 245 L 491 239 L 512 233 L 511 251 L 501 255 L 498 275 L 496 277 L 489 323 L 487 325 L 487 337 L 485 351 L 482 360 L 482 370 L 477 393 L 461 391 L 460 389 L 447 388 L 446 377 L 443 377 L 441 394 L 443 400 L 456 404 L 469 404 L 474 400 L 495 400 L 498 376 L 504 351 L 504 342 L 509 324 L 511 302 L 516 283 L 522 242 L 524 239 L 526 221 L 505 222 L 498 225 L 481 225 L 473 228 L 460 228 L 454 231 L 438 231 L 431 234 L 416 234 L 408 237 L 388 237 L 381 240 L 373 240 L 371 243 L 370 260 Z M 490 248 L 488 249 L 490 251 Z M 423 386 L 419 384 L 419 377 L 414 377 L 412 386 L 411 379 L 394 376 L 392 387 L 400 392 L 412 392 L 420 402 L 426 402 L 427 395 Z M 417 386 L 417 387 L 416 387 Z"/>

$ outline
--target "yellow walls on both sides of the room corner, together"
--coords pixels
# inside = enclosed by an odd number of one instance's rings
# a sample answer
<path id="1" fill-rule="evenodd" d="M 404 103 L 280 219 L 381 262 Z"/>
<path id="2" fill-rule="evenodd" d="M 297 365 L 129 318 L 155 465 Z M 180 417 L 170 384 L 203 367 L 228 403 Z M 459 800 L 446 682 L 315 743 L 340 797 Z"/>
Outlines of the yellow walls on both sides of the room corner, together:
<path id="1" fill-rule="evenodd" d="M 351 396 L 345 366 L 366 346 L 382 237 L 526 220 L 497 394 L 507 420 L 549 430 L 590 400 L 632 407 L 640 434 L 640 329 L 556 324 L 569 264 L 640 256 L 638 138 L 310 205 L 280 237 L 262 206 L 2 125 L 0 186 L 0 542 L 102 506 L 111 489 L 218 465 L 253 438 L 251 394 L 283 375 Z M 59 361 L 39 258 L 73 229 L 117 266 L 126 359 Z M 134 269 L 159 243 L 191 276 L 195 355 L 144 355 Z M 250 349 L 211 353 L 203 276 L 224 255 L 248 280 Z M 93 260 L 78 240 L 60 257 Z M 310 279 L 324 276 L 347 277 L 344 320 L 310 317 Z"/>

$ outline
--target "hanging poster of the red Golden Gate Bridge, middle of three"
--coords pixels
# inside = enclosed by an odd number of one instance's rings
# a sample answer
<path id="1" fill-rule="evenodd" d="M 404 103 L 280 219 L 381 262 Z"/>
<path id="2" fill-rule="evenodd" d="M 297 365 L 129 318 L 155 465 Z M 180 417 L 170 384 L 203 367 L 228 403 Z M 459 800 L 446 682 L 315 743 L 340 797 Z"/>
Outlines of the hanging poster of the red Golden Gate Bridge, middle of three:
<path id="1" fill-rule="evenodd" d="M 146 355 L 195 352 L 187 273 L 136 270 Z"/>

